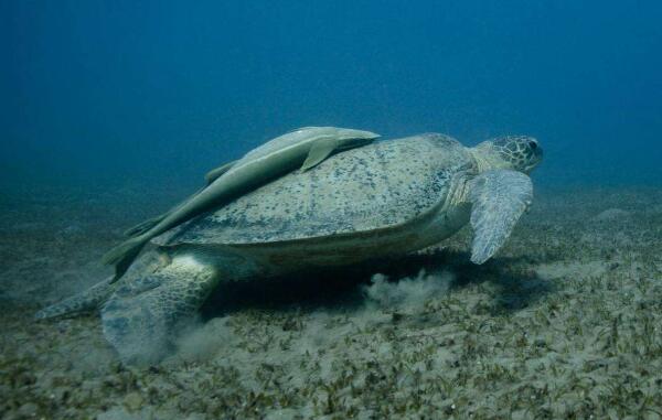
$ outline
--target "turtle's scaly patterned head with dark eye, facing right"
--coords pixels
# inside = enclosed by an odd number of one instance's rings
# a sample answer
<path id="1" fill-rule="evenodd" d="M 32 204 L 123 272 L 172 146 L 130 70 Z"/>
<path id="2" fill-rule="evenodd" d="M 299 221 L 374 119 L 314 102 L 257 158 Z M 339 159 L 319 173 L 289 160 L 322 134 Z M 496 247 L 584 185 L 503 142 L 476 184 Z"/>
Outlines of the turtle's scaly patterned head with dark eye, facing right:
<path id="1" fill-rule="evenodd" d="M 483 141 L 474 148 L 479 168 L 512 169 L 531 173 L 543 160 L 543 149 L 528 136 L 502 136 Z"/>

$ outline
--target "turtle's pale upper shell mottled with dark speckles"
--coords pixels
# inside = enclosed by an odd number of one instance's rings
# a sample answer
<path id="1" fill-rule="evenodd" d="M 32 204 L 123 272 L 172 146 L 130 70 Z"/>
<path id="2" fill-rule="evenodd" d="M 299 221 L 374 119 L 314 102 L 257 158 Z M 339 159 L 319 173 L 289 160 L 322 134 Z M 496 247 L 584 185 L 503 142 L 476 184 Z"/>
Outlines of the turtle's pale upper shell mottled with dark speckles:
<path id="1" fill-rule="evenodd" d="M 377 142 L 280 177 L 156 241 L 264 244 L 388 228 L 444 203 L 452 176 L 472 168 L 447 136 Z"/>

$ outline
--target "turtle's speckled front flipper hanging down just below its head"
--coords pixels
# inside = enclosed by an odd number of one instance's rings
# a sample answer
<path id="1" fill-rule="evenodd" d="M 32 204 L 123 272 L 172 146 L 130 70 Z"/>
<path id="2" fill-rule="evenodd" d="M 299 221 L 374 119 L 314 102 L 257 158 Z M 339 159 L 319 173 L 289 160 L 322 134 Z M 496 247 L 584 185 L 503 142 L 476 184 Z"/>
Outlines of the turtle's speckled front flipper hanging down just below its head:
<path id="1" fill-rule="evenodd" d="M 469 191 L 473 228 L 471 261 L 480 265 L 503 246 L 531 205 L 533 184 L 521 172 L 494 170 L 477 176 Z"/>

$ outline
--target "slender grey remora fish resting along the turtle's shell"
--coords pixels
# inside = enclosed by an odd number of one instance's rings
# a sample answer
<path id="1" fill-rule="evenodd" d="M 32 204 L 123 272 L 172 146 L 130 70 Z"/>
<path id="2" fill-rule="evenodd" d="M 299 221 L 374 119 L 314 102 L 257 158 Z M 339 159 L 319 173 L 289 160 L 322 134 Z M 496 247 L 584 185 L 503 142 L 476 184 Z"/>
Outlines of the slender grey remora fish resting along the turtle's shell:
<path id="1" fill-rule="evenodd" d="M 332 152 L 357 148 L 378 137 L 370 131 L 337 127 L 305 127 L 277 137 L 246 153 L 238 161 L 207 173 L 209 185 L 205 189 L 164 215 L 129 229 L 127 234 L 136 236 L 110 249 L 102 260 L 106 265 L 115 265 L 117 280 L 153 237 L 298 166 L 301 171 L 308 171 Z"/>

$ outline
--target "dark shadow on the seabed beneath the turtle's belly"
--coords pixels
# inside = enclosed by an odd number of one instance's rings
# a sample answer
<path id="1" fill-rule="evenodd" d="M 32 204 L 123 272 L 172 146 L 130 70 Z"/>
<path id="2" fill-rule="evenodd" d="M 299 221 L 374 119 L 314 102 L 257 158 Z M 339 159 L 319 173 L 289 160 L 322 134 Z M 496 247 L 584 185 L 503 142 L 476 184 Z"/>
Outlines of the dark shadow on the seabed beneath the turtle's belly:
<path id="1" fill-rule="evenodd" d="M 489 282 L 496 290 L 492 312 L 516 312 L 555 290 L 535 271 L 522 269 L 522 262 L 526 262 L 526 257 L 494 258 L 477 266 L 469 261 L 468 252 L 434 249 L 349 268 L 225 283 L 203 305 L 202 317 L 210 320 L 245 309 L 360 309 L 366 301 L 365 287 L 371 284 L 374 274 L 384 274 L 388 282 L 397 283 L 405 278 L 416 278 L 421 270 L 451 272 L 450 292 Z"/>

